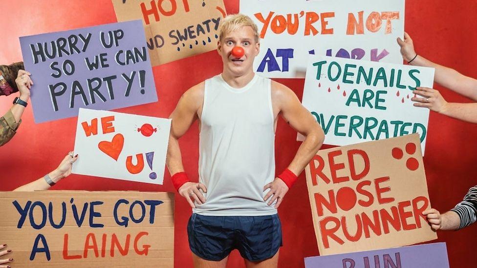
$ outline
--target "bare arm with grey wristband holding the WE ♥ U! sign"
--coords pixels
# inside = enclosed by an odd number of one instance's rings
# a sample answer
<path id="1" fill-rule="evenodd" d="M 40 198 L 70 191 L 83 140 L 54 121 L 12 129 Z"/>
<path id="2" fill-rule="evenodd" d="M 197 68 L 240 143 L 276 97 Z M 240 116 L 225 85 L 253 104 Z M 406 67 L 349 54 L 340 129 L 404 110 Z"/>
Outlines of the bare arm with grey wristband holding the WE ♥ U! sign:
<path id="1" fill-rule="evenodd" d="M 77 159 L 78 155 L 73 157 L 73 152 L 69 152 L 55 170 L 51 171 L 43 178 L 16 188 L 14 191 L 31 192 L 49 189 L 61 179 L 71 174 L 71 166 Z"/>

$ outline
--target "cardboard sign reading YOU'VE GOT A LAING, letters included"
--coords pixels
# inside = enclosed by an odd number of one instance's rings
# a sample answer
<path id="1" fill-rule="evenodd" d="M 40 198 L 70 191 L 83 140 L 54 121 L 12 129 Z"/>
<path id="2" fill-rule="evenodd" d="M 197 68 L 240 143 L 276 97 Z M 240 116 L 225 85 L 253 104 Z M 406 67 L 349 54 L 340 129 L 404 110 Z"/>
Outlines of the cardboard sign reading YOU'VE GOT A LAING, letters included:
<path id="1" fill-rule="evenodd" d="M 0 192 L 12 267 L 173 267 L 174 195 Z"/>

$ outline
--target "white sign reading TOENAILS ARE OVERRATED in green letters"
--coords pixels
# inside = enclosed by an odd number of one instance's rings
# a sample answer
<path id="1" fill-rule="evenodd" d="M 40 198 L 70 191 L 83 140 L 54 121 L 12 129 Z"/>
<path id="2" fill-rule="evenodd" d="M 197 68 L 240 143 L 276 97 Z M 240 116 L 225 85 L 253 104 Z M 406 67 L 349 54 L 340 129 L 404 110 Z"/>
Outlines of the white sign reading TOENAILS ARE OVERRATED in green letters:
<path id="1" fill-rule="evenodd" d="M 419 133 L 424 153 L 429 109 L 413 106 L 412 90 L 433 83 L 434 68 L 310 56 L 302 103 L 326 144 Z"/>

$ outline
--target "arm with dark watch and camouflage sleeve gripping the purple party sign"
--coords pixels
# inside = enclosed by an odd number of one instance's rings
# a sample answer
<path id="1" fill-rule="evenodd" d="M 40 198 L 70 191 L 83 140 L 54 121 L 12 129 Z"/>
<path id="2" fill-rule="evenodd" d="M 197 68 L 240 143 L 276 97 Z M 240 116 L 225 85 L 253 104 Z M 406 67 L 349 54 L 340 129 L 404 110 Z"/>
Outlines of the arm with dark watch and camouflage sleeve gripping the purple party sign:
<path id="1" fill-rule="evenodd" d="M 15 82 L 20 91 L 20 97 L 16 104 L 0 118 L 0 146 L 9 142 L 17 133 L 19 125 L 22 123 L 21 117 L 25 110 L 25 103 L 30 99 L 30 88 L 33 81 L 30 79 L 30 73 L 24 70 L 18 71 Z M 23 103 L 23 104 L 21 104 Z"/>

